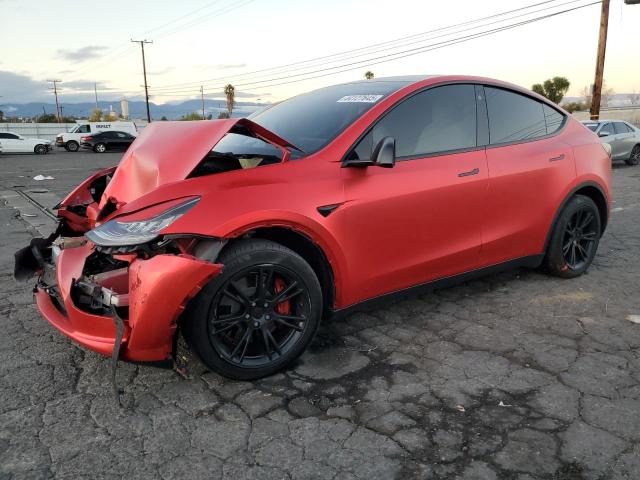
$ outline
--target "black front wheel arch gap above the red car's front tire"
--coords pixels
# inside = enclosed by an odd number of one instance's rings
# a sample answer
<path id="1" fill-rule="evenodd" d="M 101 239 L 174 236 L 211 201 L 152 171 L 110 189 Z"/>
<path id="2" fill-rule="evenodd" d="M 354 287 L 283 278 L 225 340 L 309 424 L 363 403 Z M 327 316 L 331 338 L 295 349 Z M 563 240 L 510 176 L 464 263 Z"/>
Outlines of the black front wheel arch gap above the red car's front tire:
<path id="1" fill-rule="evenodd" d="M 289 226 L 260 226 L 246 231 L 242 236 L 230 239 L 220 250 L 244 238 L 262 238 L 279 243 L 300 255 L 316 274 L 322 289 L 322 318 L 330 315 L 336 300 L 335 274 L 329 257 L 311 237 Z M 218 254 L 218 256 L 220 255 Z"/>

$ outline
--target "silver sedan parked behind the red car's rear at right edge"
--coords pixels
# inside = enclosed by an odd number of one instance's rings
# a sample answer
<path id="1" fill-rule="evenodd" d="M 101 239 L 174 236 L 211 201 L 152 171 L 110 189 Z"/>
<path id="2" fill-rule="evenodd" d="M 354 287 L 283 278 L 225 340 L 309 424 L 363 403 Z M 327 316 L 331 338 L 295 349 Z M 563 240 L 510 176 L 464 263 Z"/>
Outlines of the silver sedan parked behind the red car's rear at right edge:
<path id="1" fill-rule="evenodd" d="M 585 120 L 585 127 L 611 145 L 611 158 L 627 165 L 640 163 L 640 129 L 622 120 Z"/>

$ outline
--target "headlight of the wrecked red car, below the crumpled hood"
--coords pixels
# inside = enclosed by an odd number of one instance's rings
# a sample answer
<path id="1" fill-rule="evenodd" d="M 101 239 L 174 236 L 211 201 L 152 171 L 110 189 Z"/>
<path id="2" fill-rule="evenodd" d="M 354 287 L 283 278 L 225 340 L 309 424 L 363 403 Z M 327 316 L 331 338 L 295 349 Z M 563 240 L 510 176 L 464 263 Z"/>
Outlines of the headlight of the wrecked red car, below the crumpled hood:
<path id="1" fill-rule="evenodd" d="M 194 198 L 162 212 L 160 215 L 136 221 L 109 220 L 85 236 L 101 247 L 140 245 L 155 240 L 160 232 L 191 210 L 200 198 Z"/>

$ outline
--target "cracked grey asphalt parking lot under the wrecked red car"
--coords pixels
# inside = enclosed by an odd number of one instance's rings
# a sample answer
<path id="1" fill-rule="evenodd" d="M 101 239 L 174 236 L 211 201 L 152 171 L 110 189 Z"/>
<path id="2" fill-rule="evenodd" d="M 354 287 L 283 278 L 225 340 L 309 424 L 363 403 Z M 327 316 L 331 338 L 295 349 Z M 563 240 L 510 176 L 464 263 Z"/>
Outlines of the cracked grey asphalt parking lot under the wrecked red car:
<path id="1" fill-rule="evenodd" d="M 0 155 L 0 190 L 53 205 L 119 157 Z M 637 480 L 639 192 L 640 167 L 616 165 L 581 278 L 516 270 L 330 322 L 295 368 L 257 382 L 185 350 L 189 378 L 121 363 L 125 410 L 108 359 L 13 280 L 13 252 L 49 227 L 3 201 L 0 478 Z"/>

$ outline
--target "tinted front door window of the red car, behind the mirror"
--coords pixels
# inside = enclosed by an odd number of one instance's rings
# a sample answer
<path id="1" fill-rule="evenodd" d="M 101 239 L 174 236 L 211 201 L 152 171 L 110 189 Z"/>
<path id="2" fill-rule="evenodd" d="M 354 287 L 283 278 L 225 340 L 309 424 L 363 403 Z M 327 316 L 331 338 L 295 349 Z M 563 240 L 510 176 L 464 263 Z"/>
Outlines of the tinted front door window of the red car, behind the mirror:
<path id="1" fill-rule="evenodd" d="M 384 137 L 396 141 L 398 159 L 476 146 L 473 85 L 435 87 L 404 100 L 365 135 L 349 158 L 368 159 Z"/>

